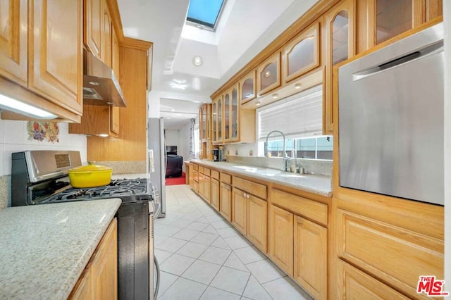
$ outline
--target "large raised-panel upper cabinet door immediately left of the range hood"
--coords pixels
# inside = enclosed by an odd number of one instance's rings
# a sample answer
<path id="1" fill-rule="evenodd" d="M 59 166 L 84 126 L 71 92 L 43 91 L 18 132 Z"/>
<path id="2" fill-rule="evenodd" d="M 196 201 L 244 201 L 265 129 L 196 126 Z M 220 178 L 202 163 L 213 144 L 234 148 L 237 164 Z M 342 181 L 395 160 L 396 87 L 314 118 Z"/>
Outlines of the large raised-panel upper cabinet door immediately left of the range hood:
<path id="1" fill-rule="evenodd" d="M 82 0 L 32 2 L 28 87 L 82 113 Z"/>

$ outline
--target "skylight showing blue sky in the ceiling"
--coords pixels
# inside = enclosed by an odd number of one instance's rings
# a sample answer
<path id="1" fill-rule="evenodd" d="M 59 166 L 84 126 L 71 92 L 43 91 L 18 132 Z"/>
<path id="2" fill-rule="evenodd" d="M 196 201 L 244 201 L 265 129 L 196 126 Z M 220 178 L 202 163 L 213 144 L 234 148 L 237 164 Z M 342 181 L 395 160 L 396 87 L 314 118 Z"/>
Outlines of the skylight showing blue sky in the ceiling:
<path id="1" fill-rule="evenodd" d="M 225 0 L 190 0 L 186 20 L 198 27 L 214 30 Z"/>

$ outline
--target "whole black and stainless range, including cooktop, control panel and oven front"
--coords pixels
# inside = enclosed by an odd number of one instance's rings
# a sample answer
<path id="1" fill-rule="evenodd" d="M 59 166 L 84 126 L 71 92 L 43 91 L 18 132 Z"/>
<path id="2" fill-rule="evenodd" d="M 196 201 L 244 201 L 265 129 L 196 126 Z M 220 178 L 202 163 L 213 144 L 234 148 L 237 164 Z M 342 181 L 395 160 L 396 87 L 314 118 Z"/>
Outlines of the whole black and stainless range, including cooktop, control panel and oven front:
<path id="1" fill-rule="evenodd" d="M 154 275 L 154 217 L 158 197 L 147 178 L 112 180 L 92 188 L 70 186 L 68 169 L 81 165 L 78 151 L 23 151 L 12 154 L 11 205 L 119 198 L 118 299 L 154 299 L 159 272 Z M 156 285 L 154 284 L 156 283 Z"/>

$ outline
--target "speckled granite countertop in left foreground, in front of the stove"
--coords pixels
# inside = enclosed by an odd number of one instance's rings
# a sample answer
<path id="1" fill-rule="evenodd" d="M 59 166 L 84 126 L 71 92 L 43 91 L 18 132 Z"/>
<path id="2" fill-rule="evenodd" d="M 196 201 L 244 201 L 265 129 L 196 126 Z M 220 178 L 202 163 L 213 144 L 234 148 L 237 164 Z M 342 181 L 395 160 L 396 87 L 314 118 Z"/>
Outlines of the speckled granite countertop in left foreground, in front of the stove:
<path id="1" fill-rule="evenodd" d="M 0 210 L 0 299 L 67 299 L 121 199 Z"/>

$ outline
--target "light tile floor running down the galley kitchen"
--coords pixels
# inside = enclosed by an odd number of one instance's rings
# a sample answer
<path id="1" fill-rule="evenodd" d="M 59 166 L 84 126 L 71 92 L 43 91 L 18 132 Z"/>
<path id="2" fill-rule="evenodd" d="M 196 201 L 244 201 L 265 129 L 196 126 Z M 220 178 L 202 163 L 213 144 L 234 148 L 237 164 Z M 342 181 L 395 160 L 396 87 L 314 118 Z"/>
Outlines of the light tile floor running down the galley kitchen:
<path id="1" fill-rule="evenodd" d="M 166 187 L 154 238 L 159 299 L 311 299 L 187 185 Z"/>

